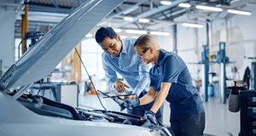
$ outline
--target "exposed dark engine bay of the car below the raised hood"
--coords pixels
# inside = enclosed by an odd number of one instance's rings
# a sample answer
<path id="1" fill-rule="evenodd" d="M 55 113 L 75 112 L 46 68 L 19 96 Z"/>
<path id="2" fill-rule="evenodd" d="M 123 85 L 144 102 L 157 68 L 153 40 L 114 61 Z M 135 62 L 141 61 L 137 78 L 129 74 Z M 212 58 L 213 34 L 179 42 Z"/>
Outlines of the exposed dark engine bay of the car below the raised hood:
<path id="1" fill-rule="evenodd" d="M 9 95 L 13 95 L 13 93 Z M 74 108 L 73 106 L 61 104 L 40 95 L 22 94 L 17 101 L 30 111 L 41 116 L 61 117 L 77 121 L 111 122 L 138 127 L 143 127 L 143 123 L 147 122 L 143 120 L 143 117 L 141 116 L 135 116 L 119 111 L 86 110 L 79 107 Z M 172 135 L 168 128 L 162 125 L 151 127 L 150 129 L 162 136 Z"/>

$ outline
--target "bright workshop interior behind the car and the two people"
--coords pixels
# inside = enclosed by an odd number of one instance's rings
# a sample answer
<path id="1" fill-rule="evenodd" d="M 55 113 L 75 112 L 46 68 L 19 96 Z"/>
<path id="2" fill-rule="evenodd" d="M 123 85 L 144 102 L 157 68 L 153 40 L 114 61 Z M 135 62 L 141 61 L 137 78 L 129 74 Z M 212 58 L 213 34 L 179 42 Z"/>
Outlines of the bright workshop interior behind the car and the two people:
<path id="1" fill-rule="evenodd" d="M 83 3 L 92 2 L 0 0 L 0 77 Z M 205 107 L 204 135 L 235 136 L 243 135 L 245 130 L 247 135 L 256 135 L 255 7 L 256 0 L 126 0 L 84 33 L 72 45 L 76 49 L 70 50 L 46 77 L 34 81 L 26 93 L 73 107 L 120 111 L 113 99 L 105 98 L 104 94 L 113 92 L 108 88 L 102 65 L 104 50 L 95 39 L 100 27 L 112 27 L 121 39 L 150 34 L 160 43 L 160 48 L 183 59 Z M 61 48 L 55 54 L 58 52 Z M 124 79 L 119 74 L 118 78 Z M 240 90 L 237 94 L 240 111 L 231 112 L 229 98 L 235 90 L 231 87 L 235 86 L 251 92 Z M 171 125 L 170 113 L 169 103 L 165 101 L 163 124 L 166 127 Z M 248 119 L 249 115 L 252 119 Z"/>

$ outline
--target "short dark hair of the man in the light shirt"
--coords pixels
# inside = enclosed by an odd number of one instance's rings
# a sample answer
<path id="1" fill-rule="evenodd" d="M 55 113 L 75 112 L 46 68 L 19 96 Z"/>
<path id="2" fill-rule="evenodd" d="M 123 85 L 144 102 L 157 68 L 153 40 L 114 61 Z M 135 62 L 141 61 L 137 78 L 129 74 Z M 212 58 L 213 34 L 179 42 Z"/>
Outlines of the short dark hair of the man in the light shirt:
<path id="1" fill-rule="evenodd" d="M 115 31 L 113 31 L 113 28 L 111 27 L 101 27 L 99 30 L 96 31 L 96 42 L 101 43 L 106 37 L 113 39 L 117 37 L 117 34 Z"/>

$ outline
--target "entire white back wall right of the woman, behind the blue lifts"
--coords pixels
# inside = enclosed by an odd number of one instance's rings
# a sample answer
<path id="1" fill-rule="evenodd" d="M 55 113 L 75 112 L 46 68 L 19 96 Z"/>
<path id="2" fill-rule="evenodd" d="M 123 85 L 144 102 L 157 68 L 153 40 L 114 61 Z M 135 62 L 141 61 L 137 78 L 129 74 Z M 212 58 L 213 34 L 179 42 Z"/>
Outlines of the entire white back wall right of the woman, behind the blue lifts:
<path id="1" fill-rule="evenodd" d="M 236 66 L 241 80 L 247 66 L 251 68 L 252 59 L 244 59 L 244 56 L 256 56 L 256 8 L 247 5 L 243 10 L 252 11 L 251 16 L 233 14 L 227 20 L 213 20 L 212 37 L 210 37 L 210 54 L 217 54 L 218 43 L 226 42 L 226 55 L 234 64 L 227 66 L 227 76 L 234 77 L 231 68 Z M 204 23 L 201 23 L 204 24 Z M 172 37 L 169 40 L 172 41 Z M 177 54 L 183 58 L 189 67 L 194 79 L 200 79 L 201 65 L 190 65 L 189 62 L 201 61 L 202 46 L 207 43 L 206 24 L 204 28 L 196 29 L 177 25 Z M 171 46 L 173 48 L 172 42 Z M 172 50 L 171 50 L 172 51 Z M 211 65 L 210 71 L 218 72 L 218 65 Z"/>

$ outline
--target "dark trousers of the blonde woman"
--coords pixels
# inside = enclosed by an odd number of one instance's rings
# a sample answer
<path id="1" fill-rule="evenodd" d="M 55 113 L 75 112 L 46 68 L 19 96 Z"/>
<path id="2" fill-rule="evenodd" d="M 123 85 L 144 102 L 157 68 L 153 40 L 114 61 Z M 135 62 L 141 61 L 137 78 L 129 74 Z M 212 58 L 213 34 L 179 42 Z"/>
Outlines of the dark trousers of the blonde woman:
<path id="1" fill-rule="evenodd" d="M 203 136 L 206 123 L 205 113 L 191 116 L 176 116 L 170 119 L 175 136 Z"/>

